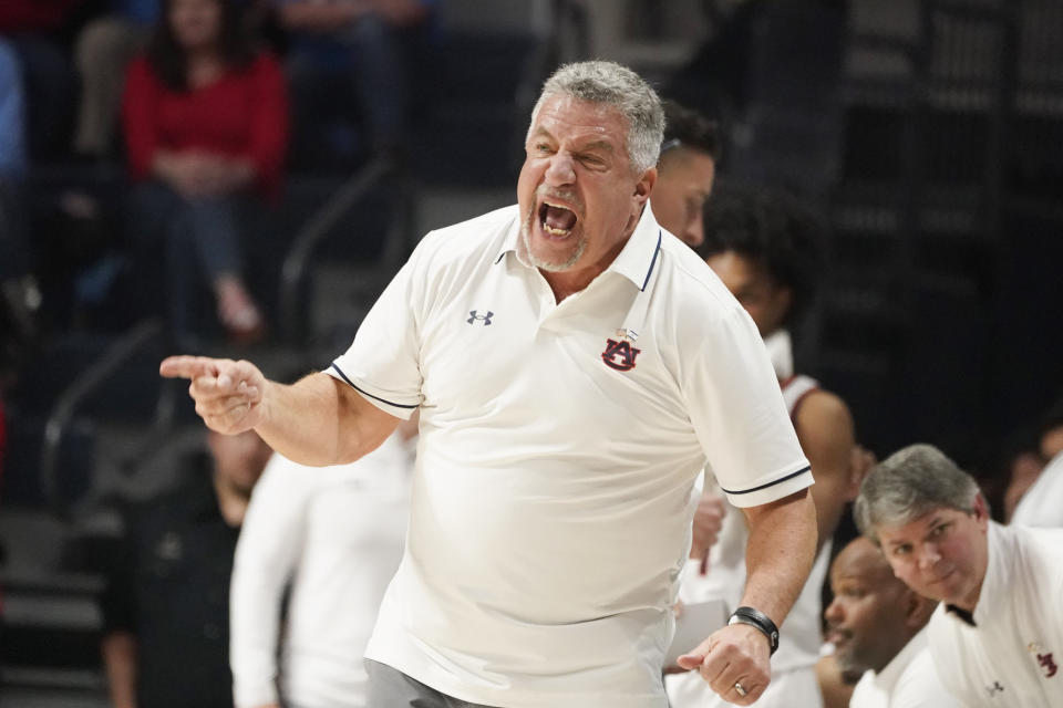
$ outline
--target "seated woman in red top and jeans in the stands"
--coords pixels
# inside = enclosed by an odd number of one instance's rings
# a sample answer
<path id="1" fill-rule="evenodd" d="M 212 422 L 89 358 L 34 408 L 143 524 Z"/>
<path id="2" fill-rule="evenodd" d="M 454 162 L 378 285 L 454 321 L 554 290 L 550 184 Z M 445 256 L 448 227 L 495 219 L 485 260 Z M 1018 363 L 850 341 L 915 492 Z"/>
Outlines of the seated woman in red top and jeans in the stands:
<path id="1" fill-rule="evenodd" d="M 182 337 L 195 336 L 199 278 L 230 335 L 262 332 L 244 282 L 240 221 L 249 198 L 278 191 L 288 103 L 280 65 L 244 28 L 233 0 L 167 0 L 126 77 L 123 127 L 146 219 L 137 236 L 165 241 L 168 310 Z"/>

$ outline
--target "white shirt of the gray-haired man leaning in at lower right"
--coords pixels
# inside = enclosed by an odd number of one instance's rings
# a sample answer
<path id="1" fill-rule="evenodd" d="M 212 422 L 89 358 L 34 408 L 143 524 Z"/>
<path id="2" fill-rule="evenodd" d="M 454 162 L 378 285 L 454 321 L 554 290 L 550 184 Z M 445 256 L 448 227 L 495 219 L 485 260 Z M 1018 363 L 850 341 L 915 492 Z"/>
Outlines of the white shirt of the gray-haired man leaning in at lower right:
<path id="1" fill-rule="evenodd" d="M 973 617 L 943 603 L 930 617 L 946 688 L 969 707 L 1063 708 L 1063 529 L 990 522 Z"/>

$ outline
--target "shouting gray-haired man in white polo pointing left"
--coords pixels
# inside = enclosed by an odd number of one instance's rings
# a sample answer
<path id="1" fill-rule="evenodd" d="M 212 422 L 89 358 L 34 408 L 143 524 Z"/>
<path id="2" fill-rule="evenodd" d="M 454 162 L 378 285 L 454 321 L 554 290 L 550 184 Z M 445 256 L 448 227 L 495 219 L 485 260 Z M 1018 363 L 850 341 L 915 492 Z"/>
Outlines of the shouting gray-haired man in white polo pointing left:
<path id="1" fill-rule="evenodd" d="M 328 372 L 283 386 L 249 362 L 161 366 L 192 379 L 209 427 L 305 465 L 357 459 L 421 410 L 373 708 L 664 708 L 706 462 L 749 519 L 750 579 L 681 663 L 739 705 L 768 683 L 815 552 L 812 475 L 755 325 L 646 208 L 662 127 L 630 70 L 564 66 L 518 204 L 427 235 Z"/>

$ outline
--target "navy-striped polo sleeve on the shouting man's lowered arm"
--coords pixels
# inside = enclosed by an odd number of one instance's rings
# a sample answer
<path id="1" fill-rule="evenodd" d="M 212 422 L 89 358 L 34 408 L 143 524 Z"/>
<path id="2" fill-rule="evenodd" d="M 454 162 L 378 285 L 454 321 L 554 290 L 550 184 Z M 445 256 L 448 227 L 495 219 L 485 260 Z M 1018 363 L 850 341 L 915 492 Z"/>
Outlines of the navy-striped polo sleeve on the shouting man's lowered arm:
<path id="1" fill-rule="evenodd" d="M 755 507 L 811 486 L 808 460 L 756 325 L 735 305 L 698 330 L 700 340 L 685 347 L 694 355 L 684 365 L 682 386 L 727 500 Z"/>

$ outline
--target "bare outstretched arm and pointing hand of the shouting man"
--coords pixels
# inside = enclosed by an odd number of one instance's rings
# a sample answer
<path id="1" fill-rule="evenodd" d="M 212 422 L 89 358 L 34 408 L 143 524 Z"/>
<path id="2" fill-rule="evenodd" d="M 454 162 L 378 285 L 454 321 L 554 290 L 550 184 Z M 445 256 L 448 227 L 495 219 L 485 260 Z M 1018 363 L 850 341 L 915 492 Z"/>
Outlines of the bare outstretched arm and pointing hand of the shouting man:
<path id="1" fill-rule="evenodd" d="M 323 467 L 376 449 L 400 419 L 328 374 L 291 384 L 268 381 L 247 361 L 171 356 L 159 373 L 192 382 L 188 394 L 207 427 L 226 435 L 251 428 L 290 460 Z"/>

